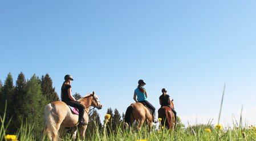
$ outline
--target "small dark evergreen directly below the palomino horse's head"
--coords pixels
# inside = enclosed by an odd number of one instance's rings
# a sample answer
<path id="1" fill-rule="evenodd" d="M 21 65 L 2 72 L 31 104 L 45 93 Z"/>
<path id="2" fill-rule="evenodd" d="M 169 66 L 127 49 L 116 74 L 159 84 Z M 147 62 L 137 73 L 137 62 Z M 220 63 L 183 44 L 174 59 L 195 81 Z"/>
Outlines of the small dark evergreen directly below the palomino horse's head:
<path id="1" fill-rule="evenodd" d="M 101 133 L 102 124 L 100 122 L 100 115 L 97 110 L 93 110 L 89 114 L 89 123 L 87 125 L 86 136 L 94 136 L 96 132 Z M 98 131 L 96 131 L 98 129 Z"/>

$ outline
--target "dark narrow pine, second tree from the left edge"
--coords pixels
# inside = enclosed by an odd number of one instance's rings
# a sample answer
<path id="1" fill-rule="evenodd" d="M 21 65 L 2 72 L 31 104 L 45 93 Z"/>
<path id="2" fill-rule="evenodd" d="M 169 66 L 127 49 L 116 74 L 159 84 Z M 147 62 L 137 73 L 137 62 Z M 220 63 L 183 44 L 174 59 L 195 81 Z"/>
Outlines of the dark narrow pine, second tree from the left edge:
<path id="1" fill-rule="evenodd" d="M 26 79 L 25 75 L 21 72 L 18 75 L 17 81 L 16 81 L 16 86 L 14 90 L 14 97 L 13 101 L 15 102 L 14 104 L 14 117 L 13 117 L 13 128 L 12 129 L 18 129 L 21 127 L 21 121 L 23 119 L 23 112 L 26 110 L 23 108 L 24 103 L 26 103 L 26 99 L 24 96 L 26 95 Z M 11 124 L 12 125 L 12 124 Z"/>

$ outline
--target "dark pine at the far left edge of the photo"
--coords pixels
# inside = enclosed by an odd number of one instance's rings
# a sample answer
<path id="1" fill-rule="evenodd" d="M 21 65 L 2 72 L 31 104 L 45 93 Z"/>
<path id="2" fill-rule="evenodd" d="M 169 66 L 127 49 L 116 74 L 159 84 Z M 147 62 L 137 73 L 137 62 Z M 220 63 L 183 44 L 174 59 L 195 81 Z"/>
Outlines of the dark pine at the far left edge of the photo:
<path id="1" fill-rule="evenodd" d="M 3 114 L 5 112 L 5 103 L 7 102 L 7 110 L 6 110 L 6 117 L 5 117 L 7 120 L 10 120 L 13 116 L 13 113 L 12 113 L 14 110 L 13 96 L 14 96 L 13 76 L 9 72 L 5 80 L 5 84 L 2 87 L 2 92 L 0 95 L 0 116 L 3 117 Z M 13 134 L 13 133 L 10 133 L 10 134 Z"/>

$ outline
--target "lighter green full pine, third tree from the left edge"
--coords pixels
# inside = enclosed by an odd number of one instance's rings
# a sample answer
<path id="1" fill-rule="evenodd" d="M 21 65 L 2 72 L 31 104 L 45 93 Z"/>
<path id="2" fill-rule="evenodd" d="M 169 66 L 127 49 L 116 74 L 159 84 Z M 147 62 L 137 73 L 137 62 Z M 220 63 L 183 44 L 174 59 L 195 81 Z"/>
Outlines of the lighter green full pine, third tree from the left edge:
<path id="1" fill-rule="evenodd" d="M 24 117 L 27 123 L 34 125 L 33 130 L 36 137 L 40 138 L 40 132 L 43 130 L 43 110 L 46 106 L 46 97 L 43 96 L 40 80 L 34 74 L 27 82 L 27 93 L 24 96 L 26 103 L 24 103 L 25 113 Z"/>

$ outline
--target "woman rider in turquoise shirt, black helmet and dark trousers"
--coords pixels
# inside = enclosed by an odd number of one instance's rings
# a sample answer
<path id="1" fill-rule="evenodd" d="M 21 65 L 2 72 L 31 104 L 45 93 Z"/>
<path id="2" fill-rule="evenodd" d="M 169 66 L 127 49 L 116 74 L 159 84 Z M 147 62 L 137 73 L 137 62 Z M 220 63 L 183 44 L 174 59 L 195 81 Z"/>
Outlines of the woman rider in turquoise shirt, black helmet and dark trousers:
<path id="1" fill-rule="evenodd" d="M 149 101 L 147 101 L 148 94 L 146 92 L 146 89 L 144 88 L 146 83 L 142 79 L 140 79 L 138 83 L 139 83 L 139 86 L 134 91 L 133 100 L 135 100 L 136 102 L 141 102 L 145 104 L 148 108 L 150 108 L 152 110 L 153 122 L 156 123 L 157 122 L 155 118 L 156 108 Z M 137 96 L 137 99 L 136 99 L 136 96 Z"/>

